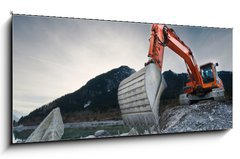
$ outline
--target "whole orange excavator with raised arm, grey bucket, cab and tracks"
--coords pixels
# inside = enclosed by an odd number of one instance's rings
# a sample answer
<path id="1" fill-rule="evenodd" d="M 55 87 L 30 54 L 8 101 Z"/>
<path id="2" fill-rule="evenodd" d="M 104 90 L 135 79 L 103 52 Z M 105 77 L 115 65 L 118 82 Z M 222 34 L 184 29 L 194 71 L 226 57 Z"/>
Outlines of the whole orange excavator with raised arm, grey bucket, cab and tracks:
<path id="1" fill-rule="evenodd" d="M 180 56 L 187 67 L 189 82 L 179 96 L 181 105 L 205 99 L 224 100 L 224 87 L 218 77 L 218 63 L 198 67 L 191 49 L 166 25 L 153 24 L 145 67 L 123 80 L 118 88 L 118 101 L 124 122 L 130 126 L 159 125 L 159 103 L 167 87 L 161 74 L 164 47 Z"/>

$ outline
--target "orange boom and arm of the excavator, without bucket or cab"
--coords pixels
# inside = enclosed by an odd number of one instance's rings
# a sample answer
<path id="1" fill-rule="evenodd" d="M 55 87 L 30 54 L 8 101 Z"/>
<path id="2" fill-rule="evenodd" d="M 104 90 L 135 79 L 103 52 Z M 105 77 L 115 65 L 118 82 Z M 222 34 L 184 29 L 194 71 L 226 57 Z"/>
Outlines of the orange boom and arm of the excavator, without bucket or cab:
<path id="1" fill-rule="evenodd" d="M 177 36 L 173 29 L 166 25 L 153 24 L 148 56 L 161 70 L 165 46 L 184 60 L 193 87 L 201 86 L 202 78 L 191 49 Z"/>

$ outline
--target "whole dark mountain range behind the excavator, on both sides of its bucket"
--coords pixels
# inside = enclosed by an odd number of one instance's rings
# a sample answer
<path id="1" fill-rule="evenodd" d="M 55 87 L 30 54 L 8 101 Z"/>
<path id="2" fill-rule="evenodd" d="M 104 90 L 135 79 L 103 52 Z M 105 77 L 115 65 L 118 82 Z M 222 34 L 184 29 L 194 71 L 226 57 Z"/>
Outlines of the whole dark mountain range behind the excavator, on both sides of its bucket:
<path id="1" fill-rule="evenodd" d="M 81 122 L 121 119 L 117 100 L 119 83 L 129 77 L 135 70 L 121 66 L 89 80 L 77 91 L 64 95 L 53 102 L 34 110 L 22 117 L 18 124 L 37 125 L 54 108 L 60 107 L 63 122 Z M 227 99 L 232 98 L 232 72 L 220 71 L 219 77 L 225 87 Z M 161 106 L 178 105 L 179 94 L 188 80 L 186 73 L 176 74 L 173 71 L 163 73 L 167 89 L 161 97 Z"/>

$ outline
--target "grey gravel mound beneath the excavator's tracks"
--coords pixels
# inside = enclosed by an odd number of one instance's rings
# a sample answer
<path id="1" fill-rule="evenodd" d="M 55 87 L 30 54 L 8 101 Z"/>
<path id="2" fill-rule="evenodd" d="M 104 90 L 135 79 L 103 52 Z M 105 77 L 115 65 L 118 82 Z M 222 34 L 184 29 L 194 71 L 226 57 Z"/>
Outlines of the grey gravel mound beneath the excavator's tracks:
<path id="1" fill-rule="evenodd" d="M 207 101 L 176 106 L 161 114 L 161 133 L 210 131 L 232 128 L 232 103 Z"/>

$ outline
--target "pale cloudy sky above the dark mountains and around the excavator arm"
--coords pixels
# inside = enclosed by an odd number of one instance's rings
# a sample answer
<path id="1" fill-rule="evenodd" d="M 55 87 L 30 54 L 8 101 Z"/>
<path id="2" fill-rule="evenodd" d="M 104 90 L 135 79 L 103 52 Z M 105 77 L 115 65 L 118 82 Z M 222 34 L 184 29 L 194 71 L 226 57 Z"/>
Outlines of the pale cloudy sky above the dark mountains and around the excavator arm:
<path id="1" fill-rule="evenodd" d="M 168 25 L 198 63 L 232 71 L 232 29 Z M 13 110 L 27 115 L 74 92 L 99 74 L 148 60 L 151 24 L 41 16 L 13 16 Z M 165 48 L 163 71 L 186 72 Z"/>

